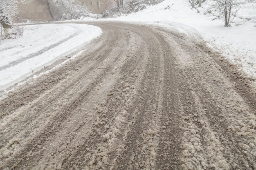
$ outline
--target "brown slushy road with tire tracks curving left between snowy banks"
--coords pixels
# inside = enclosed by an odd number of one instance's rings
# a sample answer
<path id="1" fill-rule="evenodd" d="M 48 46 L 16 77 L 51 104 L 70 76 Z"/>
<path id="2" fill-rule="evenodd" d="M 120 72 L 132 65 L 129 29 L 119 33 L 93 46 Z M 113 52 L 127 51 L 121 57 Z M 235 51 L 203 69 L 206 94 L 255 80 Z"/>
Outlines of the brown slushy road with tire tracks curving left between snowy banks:
<path id="1" fill-rule="evenodd" d="M 196 31 L 91 24 L 90 50 L 0 101 L 0 170 L 256 169 L 256 93 Z"/>

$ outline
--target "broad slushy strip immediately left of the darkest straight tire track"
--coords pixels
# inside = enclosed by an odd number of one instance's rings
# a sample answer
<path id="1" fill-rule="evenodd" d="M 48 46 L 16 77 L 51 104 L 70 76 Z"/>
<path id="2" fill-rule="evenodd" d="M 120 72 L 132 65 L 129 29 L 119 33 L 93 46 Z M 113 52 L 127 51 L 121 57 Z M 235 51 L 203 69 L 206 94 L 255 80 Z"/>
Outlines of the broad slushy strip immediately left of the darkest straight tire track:
<path id="1" fill-rule="evenodd" d="M 141 70 L 143 70 L 141 80 L 135 86 L 138 100 L 135 100 L 135 106 L 128 110 L 132 113 L 132 119 L 130 119 L 128 134 L 124 141 L 124 152 L 117 161 L 115 169 L 151 169 L 155 166 L 155 148 L 158 144 L 158 113 L 161 110 L 161 106 L 157 102 L 160 91 L 156 89 L 159 88 L 161 60 L 158 57 L 159 49 L 153 45 L 157 40 L 155 35 L 145 35 L 142 31 L 141 35 L 144 40 L 148 39 L 146 41 L 146 43 L 148 42 L 146 45 L 148 52 L 144 53 L 147 58 L 142 59 L 148 63 L 141 66 Z M 137 162 L 141 162 L 141 164 Z"/>

